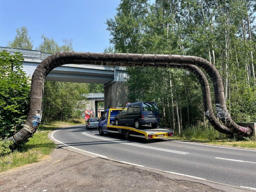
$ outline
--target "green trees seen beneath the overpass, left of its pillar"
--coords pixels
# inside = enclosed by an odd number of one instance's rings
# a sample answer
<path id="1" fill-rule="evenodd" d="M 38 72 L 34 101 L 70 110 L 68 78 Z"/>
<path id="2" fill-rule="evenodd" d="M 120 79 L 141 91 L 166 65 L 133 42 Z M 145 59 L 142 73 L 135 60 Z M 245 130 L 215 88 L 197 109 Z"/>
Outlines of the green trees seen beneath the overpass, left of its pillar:
<path id="1" fill-rule="evenodd" d="M 43 123 L 80 117 L 80 109 L 84 109 L 86 104 L 83 93 L 88 93 L 87 84 L 47 81 L 44 86 Z"/>

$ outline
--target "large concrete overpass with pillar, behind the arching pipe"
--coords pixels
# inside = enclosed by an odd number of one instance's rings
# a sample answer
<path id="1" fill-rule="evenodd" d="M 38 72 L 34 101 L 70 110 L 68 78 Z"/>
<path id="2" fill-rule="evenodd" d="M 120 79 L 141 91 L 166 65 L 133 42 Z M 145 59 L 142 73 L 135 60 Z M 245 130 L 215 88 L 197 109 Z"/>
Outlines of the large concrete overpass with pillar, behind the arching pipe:
<path id="1" fill-rule="evenodd" d="M 20 52 L 23 55 L 23 70 L 28 76 L 32 76 L 38 64 L 51 53 L 43 53 L 38 50 L 15 49 L 0 47 L 0 51 L 6 50 L 10 54 Z M 91 64 L 67 64 L 53 69 L 45 78 L 45 81 L 97 83 L 104 84 L 105 108 L 121 107 L 127 101 L 124 82 L 127 78 L 125 67 L 104 66 Z"/>

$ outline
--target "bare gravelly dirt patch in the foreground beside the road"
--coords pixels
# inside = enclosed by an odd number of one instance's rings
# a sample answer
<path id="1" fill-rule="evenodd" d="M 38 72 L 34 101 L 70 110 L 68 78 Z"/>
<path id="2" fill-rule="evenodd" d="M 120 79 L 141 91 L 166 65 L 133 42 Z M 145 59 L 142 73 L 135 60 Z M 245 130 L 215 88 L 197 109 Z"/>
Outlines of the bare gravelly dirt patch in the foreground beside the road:
<path id="1" fill-rule="evenodd" d="M 0 192 L 246 191 L 56 148 L 38 163 L 0 173 Z"/>

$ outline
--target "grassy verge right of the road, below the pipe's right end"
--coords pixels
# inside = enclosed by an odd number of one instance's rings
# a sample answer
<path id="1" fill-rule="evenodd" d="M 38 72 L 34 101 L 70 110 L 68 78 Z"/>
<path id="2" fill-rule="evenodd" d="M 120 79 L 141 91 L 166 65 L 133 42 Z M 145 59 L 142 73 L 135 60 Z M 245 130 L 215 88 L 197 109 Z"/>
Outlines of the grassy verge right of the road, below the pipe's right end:
<path id="1" fill-rule="evenodd" d="M 197 126 L 189 127 L 181 131 L 181 135 L 178 136 L 178 131 L 175 131 L 175 136 L 170 139 L 182 139 L 194 142 L 204 142 L 213 145 L 227 145 L 233 147 L 243 147 L 256 149 L 256 137 L 239 138 L 239 136 L 227 136 L 219 133 L 212 126 Z"/>

